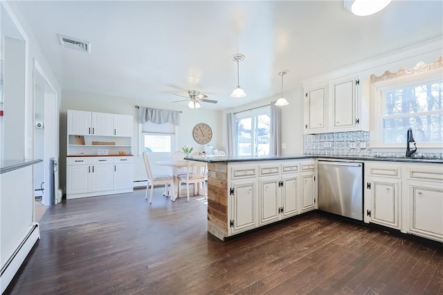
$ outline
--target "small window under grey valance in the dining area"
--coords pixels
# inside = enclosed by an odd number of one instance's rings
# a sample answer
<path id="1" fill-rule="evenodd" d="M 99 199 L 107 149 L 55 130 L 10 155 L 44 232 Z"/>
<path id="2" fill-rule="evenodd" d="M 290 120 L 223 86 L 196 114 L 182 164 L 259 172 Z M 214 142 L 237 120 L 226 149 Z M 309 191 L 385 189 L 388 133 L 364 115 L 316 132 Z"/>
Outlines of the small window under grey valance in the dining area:
<path id="1" fill-rule="evenodd" d="M 174 124 L 146 122 L 140 125 L 141 144 L 139 150 L 141 152 L 146 151 L 155 155 L 172 155 L 177 150 L 177 127 Z"/>

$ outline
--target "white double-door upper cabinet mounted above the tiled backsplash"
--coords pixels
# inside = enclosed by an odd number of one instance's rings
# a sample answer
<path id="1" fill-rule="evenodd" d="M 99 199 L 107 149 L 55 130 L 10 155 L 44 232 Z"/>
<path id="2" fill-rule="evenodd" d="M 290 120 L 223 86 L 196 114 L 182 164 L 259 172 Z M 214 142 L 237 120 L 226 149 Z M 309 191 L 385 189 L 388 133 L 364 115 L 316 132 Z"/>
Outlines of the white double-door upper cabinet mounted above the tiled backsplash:
<path id="1" fill-rule="evenodd" d="M 329 80 L 305 91 L 305 133 L 369 131 L 369 97 L 356 77 Z"/>

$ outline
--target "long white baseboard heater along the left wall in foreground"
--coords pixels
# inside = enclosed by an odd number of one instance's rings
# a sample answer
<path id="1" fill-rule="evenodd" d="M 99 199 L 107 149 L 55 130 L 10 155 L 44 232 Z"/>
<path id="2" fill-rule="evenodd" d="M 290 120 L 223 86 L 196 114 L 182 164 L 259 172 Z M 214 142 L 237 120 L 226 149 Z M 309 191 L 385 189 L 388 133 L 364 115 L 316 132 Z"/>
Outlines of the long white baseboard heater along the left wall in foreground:
<path id="1" fill-rule="evenodd" d="M 8 287 L 12 278 L 14 278 L 21 264 L 26 259 L 26 256 L 28 256 L 30 250 L 33 249 L 35 242 L 37 242 L 39 238 L 39 224 L 37 222 L 33 222 L 30 224 L 30 230 L 28 231 L 28 234 L 24 236 L 15 251 L 13 251 L 8 258 L 8 260 L 6 260 L 4 264 L 3 261 L 1 261 L 2 265 L 0 270 L 0 286 L 2 294 L 5 291 L 6 287 Z"/>

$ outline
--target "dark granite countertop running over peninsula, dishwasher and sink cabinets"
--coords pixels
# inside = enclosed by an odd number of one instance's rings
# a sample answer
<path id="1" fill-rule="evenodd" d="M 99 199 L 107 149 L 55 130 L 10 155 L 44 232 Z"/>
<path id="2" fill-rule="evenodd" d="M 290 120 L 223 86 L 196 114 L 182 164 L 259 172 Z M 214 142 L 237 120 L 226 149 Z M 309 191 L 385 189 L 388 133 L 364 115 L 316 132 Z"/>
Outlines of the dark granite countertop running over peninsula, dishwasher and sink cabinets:
<path id="1" fill-rule="evenodd" d="M 218 157 L 207 156 L 204 158 L 186 157 L 185 160 L 194 160 L 198 162 L 217 163 L 217 162 L 247 162 L 247 161 L 266 161 L 266 160 L 296 160 L 296 159 L 325 159 L 325 160 L 358 160 L 358 161 L 386 161 L 386 162 L 415 162 L 415 163 L 437 163 L 443 164 L 442 159 L 428 158 L 386 158 L 370 156 L 347 156 L 347 155 L 261 155 L 261 156 L 235 156 Z"/>

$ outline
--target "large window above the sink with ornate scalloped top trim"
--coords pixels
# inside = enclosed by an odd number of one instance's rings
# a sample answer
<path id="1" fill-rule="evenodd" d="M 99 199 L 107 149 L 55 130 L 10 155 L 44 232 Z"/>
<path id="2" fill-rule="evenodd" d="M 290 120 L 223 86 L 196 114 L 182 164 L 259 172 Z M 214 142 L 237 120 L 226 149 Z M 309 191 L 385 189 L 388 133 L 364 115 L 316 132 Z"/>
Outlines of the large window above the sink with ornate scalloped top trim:
<path id="1" fill-rule="evenodd" d="M 435 66 L 437 63 L 441 61 L 430 65 L 419 63 L 415 68 L 401 68 L 381 77 L 371 76 L 372 147 L 403 148 L 411 128 L 417 146 L 441 149 L 443 78 L 441 66 Z"/>

